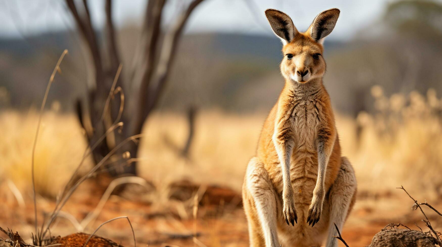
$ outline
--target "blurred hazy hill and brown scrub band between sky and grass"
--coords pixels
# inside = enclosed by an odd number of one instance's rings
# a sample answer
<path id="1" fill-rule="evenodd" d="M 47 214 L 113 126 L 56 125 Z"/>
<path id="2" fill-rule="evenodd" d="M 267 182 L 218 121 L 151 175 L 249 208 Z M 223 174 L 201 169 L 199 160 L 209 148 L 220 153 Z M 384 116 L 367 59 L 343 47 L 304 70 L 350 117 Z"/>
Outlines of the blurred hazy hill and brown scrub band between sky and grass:
<path id="1" fill-rule="evenodd" d="M 136 51 L 139 34 L 132 27 L 118 31 L 126 79 L 134 54 L 140 52 Z M 0 38 L 0 86 L 8 90 L 10 106 L 26 109 L 39 105 L 54 64 L 61 52 L 69 49 L 49 102 L 60 101 L 63 110 L 71 110 L 76 98 L 84 95 L 91 74 L 87 49 L 80 44 L 78 35 L 71 32 L 40 34 L 26 40 Z M 341 112 L 355 115 L 370 110 L 370 88 L 375 84 L 383 86 L 386 94 L 425 93 L 429 87 L 442 90 L 438 69 L 442 51 L 431 41 L 390 35 L 347 43 L 326 40 L 324 46 L 328 64 L 324 85 Z M 232 112 L 267 111 L 284 83 L 279 73 L 281 58 L 281 43 L 273 36 L 185 35 L 159 108 L 180 111 L 197 105 Z"/>

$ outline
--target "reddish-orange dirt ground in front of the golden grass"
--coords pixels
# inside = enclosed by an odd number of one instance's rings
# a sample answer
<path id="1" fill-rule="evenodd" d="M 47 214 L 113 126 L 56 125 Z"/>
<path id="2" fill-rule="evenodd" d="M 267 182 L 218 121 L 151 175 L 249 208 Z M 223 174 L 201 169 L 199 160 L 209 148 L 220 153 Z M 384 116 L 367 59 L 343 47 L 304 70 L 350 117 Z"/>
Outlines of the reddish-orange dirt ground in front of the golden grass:
<path id="1" fill-rule="evenodd" d="M 133 193 L 126 196 L 113 195 L 106 202 L 92 227 L 84 229 L 84 232 L 90 234 L 104 221 L 118 216 L 128 216 L 139 246 L 146 246 L 146 244 L 149 247 L 248 246 L 247 221 L 241 208 L 240 195 L 227 189 L 208 187 L 208 192 L 198 206 L 197 220 L 194 221 L 192 206 L 176 201 L 176 197 L 187 194 L 188 197 L 196 188 L 185 184 L 176 186 L 179 186 L 181 191 L 175 195 L 174 201 L 165 206 L 145 202 L 147 200 L 139 195 L 137 200 L 134 200 Z M 85 183 L 72 196 L 63 211 L 72 214 L 76 219 L 82 219 L 88 212 L 94 210 L 102 193 L 103 190 L 97 188 L 96 184 Z M 30 243 L 30 233 L 34 232 L 33 206 L 30 198 L 28 196 L 26 206 L 20 208 L 8 191 L 0 192 L 0 200 L 6 202 L 0 204 L 0 226 L 18 231 L 27 243 Z M 423 201 L 423 198 L 416 199 Z M 373 236 L 389 223 L 402 223 L 412 229 L 418 229 L 413 224 L 416 223 L 426 230 L 427 228 L 420 221 L 423 218 L 422 214 L 419 210 L 412 211 L 412 204 L 412 200 L 400 190 L 393 189 L 375 195 L 360 191 L 354 210 L 341 231 L 342 236 L 350 246 L 366 246 L 370 244 Z M 436 208 L 442 207 L 440 203 L 431 204 Z M 53 200 L 38 199 L 39 225 L 41 225 L 42 215 L 50 213 L 53 206 Z M 440 229 L 442 226 L 440 217 L 430 210 L 427 212 L 434 228 Z M 88 237 L 87 235 L 68 236 L 74 232 L 78 232 L 77 229 L 63 218 L 56 221 L 51 228 L 53 236 L 66 236 L 60 240 L 60 243 L 64 243 L 65 246 L 83 246 L 69 242 L 76 237 L 84 243 Z M 196 240 L 192 238 L 195 232 Z M 133 246 L 132 231 L 126 219 L 110 222 L 100 228 L 96 234 L 124 246 Z M 0 233 L 1 237 L 6 237 L 2 235 L 3 233 Z M 100 241 L 98 238 L 92 238 L 92 240 Z M 95 242 L 91 242 L 89 246 L 105 246 L 99 245 L 98 242 L 96 245 L 92 243 Z"/>

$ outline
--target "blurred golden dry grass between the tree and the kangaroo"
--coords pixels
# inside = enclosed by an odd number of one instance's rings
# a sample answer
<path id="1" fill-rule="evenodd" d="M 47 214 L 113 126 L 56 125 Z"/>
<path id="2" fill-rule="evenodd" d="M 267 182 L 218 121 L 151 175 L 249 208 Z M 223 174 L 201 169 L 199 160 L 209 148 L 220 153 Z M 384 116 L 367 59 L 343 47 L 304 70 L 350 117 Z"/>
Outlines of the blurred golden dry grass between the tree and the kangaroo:
<path id="1" fill-rule="evenodd" d="M 183 146 L 187 138 L 185 116 L 154 114 L 145 125 L 146 135 L 140 143 L 140 175 L 156 184 L 184 178 L 240 191 L 263 117 L 202 112 L 196 119 L 197 130 L 186 159 L 175 148 Z"/>

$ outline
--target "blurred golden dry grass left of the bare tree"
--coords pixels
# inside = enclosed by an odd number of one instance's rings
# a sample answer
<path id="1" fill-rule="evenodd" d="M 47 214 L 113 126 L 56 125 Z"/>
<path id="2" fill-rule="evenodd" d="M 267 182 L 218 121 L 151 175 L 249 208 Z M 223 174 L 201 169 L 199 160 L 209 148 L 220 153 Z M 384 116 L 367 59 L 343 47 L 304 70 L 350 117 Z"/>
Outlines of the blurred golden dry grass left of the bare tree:
<path id="1" fill-rule="evenodd" d="M 11 180 L 22 192 L 32 190 L 30 164 L 37 120 L 35 110 L 0 114 L 0 180 Z M 35 150 L 36 190 L 55 197 L 78 166 L 86 142 L 73 115 L 46 112 L 40 131 Z M 91 160 L 85 163 L 83 168 L 87 169 Z"/>

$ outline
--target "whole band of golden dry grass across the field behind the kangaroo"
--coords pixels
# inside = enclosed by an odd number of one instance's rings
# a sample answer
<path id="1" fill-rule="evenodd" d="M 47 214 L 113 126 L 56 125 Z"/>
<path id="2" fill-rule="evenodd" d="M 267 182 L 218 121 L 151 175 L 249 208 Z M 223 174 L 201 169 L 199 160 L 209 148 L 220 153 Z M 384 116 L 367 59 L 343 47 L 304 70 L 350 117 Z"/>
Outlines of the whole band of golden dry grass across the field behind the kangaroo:
<path id="1" fill-rule="evenodd" d="M 387 190 L 404 185 L 441 195 L 441 105 L 434 90 L 386 97 L 373 87 L 376 113 L 358 119 L 338 114 L 343 155 L 350 158 L 359 188 Z M 185 116 L 155 113 L 145 124 L 140 143 L 140 176 L 166 188 L 172 181 L 219 184 L 240 191 L 245 167 L 255 152 L 266 113 L 234 115 L 200 112 L 189 158 L 177 147 L 187 136 Z M 30 157 L 37 114 L 0 114 L 0 177 L 21 190 L 30 188 Z M 83 155 L 85 141 L 73 115 L 46 112 L 36 149 L 36 185 L 40 194 L 55 196 Z M 90 164 L 90 160 L 87 161 Z M 86 166 L 85 166 L 86 167 Z"/>

